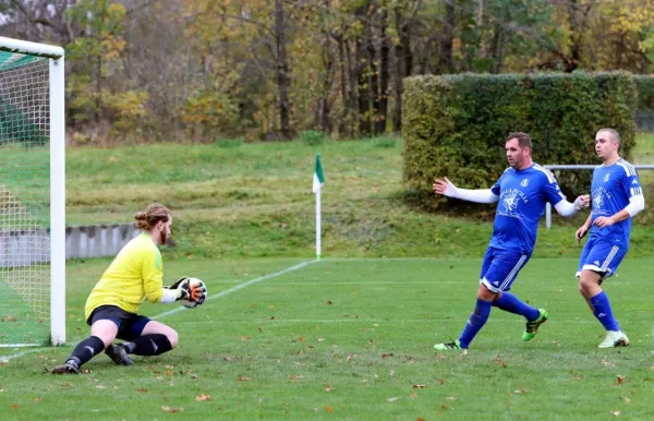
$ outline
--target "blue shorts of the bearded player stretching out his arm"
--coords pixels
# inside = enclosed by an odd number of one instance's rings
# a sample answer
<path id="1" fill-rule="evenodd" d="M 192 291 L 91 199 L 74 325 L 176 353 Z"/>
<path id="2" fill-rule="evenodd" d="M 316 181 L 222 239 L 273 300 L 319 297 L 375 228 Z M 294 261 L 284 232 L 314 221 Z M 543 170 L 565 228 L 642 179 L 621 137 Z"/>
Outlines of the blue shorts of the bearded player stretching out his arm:
<path id="1" fill-rule="evenodd" d="M 488 248 L 482 264 L 480 284 L 484 284 L 493 292 L 508 291 L 530 257 L 531 253 Z"/>

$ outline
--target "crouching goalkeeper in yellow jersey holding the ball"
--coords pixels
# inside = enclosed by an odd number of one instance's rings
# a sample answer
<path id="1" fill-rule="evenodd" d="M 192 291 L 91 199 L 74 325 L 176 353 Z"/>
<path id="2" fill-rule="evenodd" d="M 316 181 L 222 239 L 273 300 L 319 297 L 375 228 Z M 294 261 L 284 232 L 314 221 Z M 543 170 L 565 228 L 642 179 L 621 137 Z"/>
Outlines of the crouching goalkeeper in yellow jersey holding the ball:
<path id="1" fill-rule="evenodd" d="M 157 245 L 170 237 L 170 211 L 155 203 L 134 218 L 142 232 L 120 251 L 86 300 L 90 336 L 75 347 L 64 364 L 52 370 L 53 374 L 78 374 L 80 368 L 102 350 L 120 365 L 133 364 L 129 353 L 158 356 L 170 351 L 178 344 L 177 332 L 138 315 L 141 303 L 145 299 L 153 303 L 199 300 L 206 294 L 206 288 L 193 288 L 187 278 L 164 287 L 164 265 Z M 116 338 L 124 342 L 113 345 Z"/>

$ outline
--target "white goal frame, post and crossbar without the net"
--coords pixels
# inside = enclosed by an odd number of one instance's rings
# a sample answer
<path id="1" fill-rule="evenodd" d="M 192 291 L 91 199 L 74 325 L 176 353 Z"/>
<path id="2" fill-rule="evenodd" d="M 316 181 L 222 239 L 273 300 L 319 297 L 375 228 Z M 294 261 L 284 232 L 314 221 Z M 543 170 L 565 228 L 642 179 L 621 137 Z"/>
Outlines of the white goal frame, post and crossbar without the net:
<path id="1" fill-rule="evenodd" d="M 50 85 L 50 344 L 65 344 L 65 110 L 64 51 L 0 37 L 0 50 L 48 58 Z M 12 344 L 11 346 L 38 344 Z"/>

